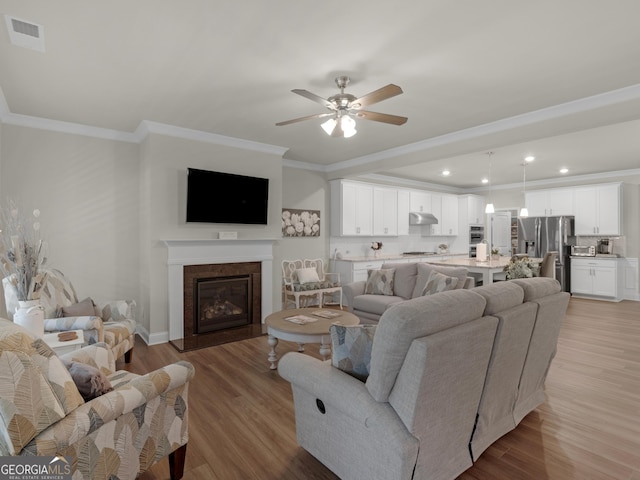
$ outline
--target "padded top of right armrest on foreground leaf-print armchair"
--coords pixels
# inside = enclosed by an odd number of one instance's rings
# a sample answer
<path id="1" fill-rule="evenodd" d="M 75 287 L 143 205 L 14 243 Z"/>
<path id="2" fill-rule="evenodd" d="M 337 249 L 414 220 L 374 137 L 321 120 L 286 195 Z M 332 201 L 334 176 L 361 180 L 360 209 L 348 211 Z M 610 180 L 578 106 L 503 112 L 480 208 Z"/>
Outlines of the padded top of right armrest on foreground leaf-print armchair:
<path id="1" fill-rule="evenodd" d="M 167 398 L 174 398 L 182 395 L 186 398 L 186 389 L 193 375 L 193 365 L 179 361 L 134 378 L 125 385 L 80 405 L 40 433 L 25 450 L 34 455 L 56 455 L 102 425 L 138 410 L 156 397 L 166 395 Z M 173 393 L 174 390 L 182 391 Z M 176 407 L 177 405 L 176 403 Z M 186 409 L 186 403 L 182 408 Z"/>

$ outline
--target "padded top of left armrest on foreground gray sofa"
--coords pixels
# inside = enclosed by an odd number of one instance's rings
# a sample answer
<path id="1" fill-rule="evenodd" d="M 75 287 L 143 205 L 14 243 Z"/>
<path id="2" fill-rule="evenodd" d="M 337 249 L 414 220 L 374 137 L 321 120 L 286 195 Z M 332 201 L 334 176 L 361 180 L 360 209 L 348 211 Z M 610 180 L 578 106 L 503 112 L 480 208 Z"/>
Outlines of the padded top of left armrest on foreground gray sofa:
<path id="1" fill-rule="evenodd" d="M 292 385 L 322 400 L 328 409 L 338 409 L 364 425 L 397 421 L 388 403 L 376 402 L 360 380 L 331 365 L 297 352 L 285 354 L 278 362 L 278 373 Z"/>

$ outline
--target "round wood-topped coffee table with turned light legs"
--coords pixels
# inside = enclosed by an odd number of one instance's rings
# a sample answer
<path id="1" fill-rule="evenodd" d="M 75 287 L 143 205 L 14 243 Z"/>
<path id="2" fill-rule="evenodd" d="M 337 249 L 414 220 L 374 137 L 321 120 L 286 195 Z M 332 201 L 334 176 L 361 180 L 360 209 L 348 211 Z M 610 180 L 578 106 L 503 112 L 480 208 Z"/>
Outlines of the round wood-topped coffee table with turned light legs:
<path id="1" fill-rule="evenodd" d="M 338 315 L 333 318 L 322 318 L 314 315 L 313 312 L 332 312 Z M 316 321 L 300 325 L 287 320 L 287 318 L 296 316 L 309 317 Z M 299 347 L 298 351 L 300 352 L 304 351 L 305 343 L 319 343 L 320 355 L 326 360 L 331 353 L 329 327 L 334 323 L 339 323 L 340 325 L 358 325 L 360 319 L 353 313 L 344 310 L 327 310 L 320 308 L 293 308 L 268 315 L 265 319 L 265 324 L 267 325 L 267 333 L 269 335 L 268 342 L 271 346 L 268 357 L 271 362 L 271 370 L 277 368 L 276 362 L 278 356 L 276 355 L 276 346 L 278 345 L 278 339 L 296 342 Z"/>

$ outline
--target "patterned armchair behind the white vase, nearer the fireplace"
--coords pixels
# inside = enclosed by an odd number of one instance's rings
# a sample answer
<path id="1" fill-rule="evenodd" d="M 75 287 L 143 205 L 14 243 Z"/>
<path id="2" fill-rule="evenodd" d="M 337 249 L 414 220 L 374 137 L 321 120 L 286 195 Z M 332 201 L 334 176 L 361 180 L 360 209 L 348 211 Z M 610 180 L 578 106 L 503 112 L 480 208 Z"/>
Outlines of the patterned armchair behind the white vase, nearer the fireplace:
<path id="1" fill-rule="evenodd" d="M 71 281 L 60 271 L 45 270 L 47 276 L 40 291 L 40 305 L 44 308 L 45 332 L 82 330 L 85 345 L 106 343 L 114 357 L 125 356 L 131 362 L 135 343 L 136 322 L 133 318 L 135 302 L 132 300 L 78 301 Z M 18 306 L 15 286 L 7 277 L 2 280 L 9 319 Z"/>

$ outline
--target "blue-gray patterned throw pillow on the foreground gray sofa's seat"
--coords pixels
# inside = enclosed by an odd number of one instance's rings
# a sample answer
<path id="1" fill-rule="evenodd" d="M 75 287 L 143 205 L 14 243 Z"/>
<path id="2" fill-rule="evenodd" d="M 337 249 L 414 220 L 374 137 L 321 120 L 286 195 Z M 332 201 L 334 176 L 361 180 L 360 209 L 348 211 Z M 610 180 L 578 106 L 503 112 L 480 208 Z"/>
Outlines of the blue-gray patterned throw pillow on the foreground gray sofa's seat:
<path id="1" fill-rule="evenodd" d="M 376 325 L 331 325 L 331 364 L 365 381 L 371 365 L 371 347 Z"/>

